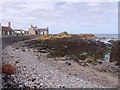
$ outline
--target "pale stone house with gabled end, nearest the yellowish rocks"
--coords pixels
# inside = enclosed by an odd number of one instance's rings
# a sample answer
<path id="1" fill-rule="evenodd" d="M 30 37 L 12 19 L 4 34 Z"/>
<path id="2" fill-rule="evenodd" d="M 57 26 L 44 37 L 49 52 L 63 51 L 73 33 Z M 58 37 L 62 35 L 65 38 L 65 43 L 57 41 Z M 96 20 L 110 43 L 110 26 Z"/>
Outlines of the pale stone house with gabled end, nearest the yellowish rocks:
<path id="1" fill-rule="evenodd" d="M 45 35 L 49 34 L 48 27 L 47 28 L 37 28 L 37 26 L 31 25 L 31 27 L 28 30 L 29 35 Z"/>

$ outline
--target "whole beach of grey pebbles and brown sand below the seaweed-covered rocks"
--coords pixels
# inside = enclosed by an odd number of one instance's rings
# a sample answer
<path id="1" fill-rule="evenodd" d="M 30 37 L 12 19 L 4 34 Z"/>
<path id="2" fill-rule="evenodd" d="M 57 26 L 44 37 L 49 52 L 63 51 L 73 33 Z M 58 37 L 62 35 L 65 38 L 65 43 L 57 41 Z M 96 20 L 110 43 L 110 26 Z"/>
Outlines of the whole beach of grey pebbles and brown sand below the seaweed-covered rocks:
<path id="1" fill-rule="evenodd" d="M 46 50 L 39 52 L 39 49 L 31 47 L 32 43 L 28 47 L 26 42 L 30 41 L 17 42 L 3 49 L 3 64 L 9 63 L 16 68 L 15 74 L 2 75 L 4 88 L 118 87 L 118 66 L 114 62 L 99 59 L 97 65 L 92 65 L 85 60 L 76 62 L 66 56 L 49 58 Z"/>

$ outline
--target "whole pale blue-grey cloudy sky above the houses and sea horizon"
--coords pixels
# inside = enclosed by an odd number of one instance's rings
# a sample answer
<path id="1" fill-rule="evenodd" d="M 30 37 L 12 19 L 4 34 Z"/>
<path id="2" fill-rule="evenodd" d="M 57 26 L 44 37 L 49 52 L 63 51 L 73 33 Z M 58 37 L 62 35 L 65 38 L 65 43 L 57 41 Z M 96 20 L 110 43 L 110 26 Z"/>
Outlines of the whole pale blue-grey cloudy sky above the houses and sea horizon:
<path id="1" fill-rule="evenodd" d="M 22 0 L 21 0 L 22 1 Z M 3 2 L 2 26 L 28 30 L 48 27 L 51 34 L 117 34 L 117 2 Z"/>

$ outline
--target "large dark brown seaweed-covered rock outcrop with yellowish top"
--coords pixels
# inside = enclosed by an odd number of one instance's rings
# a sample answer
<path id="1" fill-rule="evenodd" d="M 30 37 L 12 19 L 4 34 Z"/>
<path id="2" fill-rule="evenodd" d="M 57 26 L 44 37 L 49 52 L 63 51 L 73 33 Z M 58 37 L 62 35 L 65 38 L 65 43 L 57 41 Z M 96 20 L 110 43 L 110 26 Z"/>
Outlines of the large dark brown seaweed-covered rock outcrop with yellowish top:
<path id="1" fill-rule="evenodd" d="M 45 38 L 44 38 L 45 37 Z M 37 48 L 38 52 L 46 50 L 49 57 L 75 56 L 85 59 L 88 56 L 96 59 L 104 58 L 107 46 L 103 42 L 83 39 L 78 35 L 48 35 L 38 40 L 27 42 L 29 48 Z"/>

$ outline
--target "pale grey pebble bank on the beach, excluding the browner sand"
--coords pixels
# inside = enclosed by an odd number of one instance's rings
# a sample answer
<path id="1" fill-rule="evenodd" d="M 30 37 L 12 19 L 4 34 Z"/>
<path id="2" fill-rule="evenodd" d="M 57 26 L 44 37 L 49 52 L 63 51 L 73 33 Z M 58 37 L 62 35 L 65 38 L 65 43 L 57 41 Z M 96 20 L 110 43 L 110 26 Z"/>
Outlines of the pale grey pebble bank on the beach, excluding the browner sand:
<path id="1" fill-rule="evenodd" d="M 40 60 L 34 53 L 25 49 L 12 48 L 8 46 L 4 50 L 5 55 L 14 56 L 11 59 L 3 59 L 5 62 L 14 64 L 17 72 L 12 77 L 16 82 L 23 83 L 28 87 L 37 88 L 104 88 L 105 86 L 84 80 L 79 76 L 69 75 L 68 73 L 58 70 L 56 67 L 47 64 L 47 57 L 40 55 Z M 19 85 L 22 87 L 22 85 Z"/>

